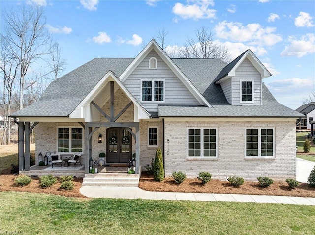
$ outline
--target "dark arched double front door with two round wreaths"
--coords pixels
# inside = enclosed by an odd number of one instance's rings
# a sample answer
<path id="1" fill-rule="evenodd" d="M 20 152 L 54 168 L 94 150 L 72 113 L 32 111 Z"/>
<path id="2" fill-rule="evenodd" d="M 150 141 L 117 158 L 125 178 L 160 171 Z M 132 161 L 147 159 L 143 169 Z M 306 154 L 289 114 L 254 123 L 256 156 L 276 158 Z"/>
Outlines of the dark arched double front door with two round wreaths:
<path id="1" fill-rule="evenodd" d="M 132 135 L 126 128 L 106 130 L 107 163 L 128 163 L 131 160 Z"/>

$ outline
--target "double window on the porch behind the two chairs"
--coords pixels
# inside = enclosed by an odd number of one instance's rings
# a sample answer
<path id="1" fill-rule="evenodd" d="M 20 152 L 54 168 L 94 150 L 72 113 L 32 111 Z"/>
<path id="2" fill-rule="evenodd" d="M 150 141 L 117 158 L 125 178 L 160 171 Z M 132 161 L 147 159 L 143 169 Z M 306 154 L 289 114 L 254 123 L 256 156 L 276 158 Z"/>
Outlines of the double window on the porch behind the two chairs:
<path id="1" fill-rule="evenodd" d="M 57 149 L 59 153 L 82 153 L 83 129 L 77 127 L 59 127 Z"/>

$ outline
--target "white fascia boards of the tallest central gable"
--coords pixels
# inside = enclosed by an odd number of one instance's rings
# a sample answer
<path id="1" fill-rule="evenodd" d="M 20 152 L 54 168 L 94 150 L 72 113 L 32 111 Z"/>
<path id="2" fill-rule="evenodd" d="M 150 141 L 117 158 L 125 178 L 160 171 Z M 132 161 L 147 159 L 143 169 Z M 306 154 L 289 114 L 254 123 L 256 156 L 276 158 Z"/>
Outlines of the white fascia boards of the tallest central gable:
<path id="1" fill-rule="evenodd" d="M 197 99 L 197 101 L 207 107 L 212 107 L 211 104 L 201 95 L 197 88 L 190 82 L 186 75 L 178 68 L 178 66 L 171 60 L 171 58 L 163 51 L 158 43 L 152 39 L 148 45 L 138 54 L 138 56 L 132 61 L 132 63 L 126 68 L 123 74 L 120 76 L 120 81 L 123 83 L 126 78 L 135 70 L 135 68 L 141 63 L 141 61 L 154 49 L 160 58 L 168 65 L 174 74 L 183 82 L 186 88 Z"/>

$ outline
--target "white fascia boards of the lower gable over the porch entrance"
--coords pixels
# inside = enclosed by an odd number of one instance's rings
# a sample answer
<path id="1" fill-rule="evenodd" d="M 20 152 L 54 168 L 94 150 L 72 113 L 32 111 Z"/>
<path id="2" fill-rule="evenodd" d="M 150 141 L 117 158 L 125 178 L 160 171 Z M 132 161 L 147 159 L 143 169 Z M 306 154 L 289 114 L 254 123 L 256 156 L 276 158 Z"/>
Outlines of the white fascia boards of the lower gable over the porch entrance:
<path id="1" fill-rule="evenodd" d="M 91 115 L 88 112 L 81 112 L 82 107 L 87 106 L 90 102 L 96 97 L 96 95 L 102 90 L 104 84 L 109 81 L 115 81 L 118 86 L 122 89 L 122 91 L 126 94 L 126 96 L 133 102 L 134 105 L 138 107 L 138 110 L 141 110 L 142 118 L 150 118 L 150 114 L 142 107 L 141 104 L 130 94 L 130 92 L 126 89 L 123 83 L 117 78 L 117 76 L 112 72 L 108 71 L 104 77 L 95 85 L 95 87 L 90 91 L 90 93 L 83 99 L 83 101 L 71 112 L 69 115 L 70 118 L 84 118 L 85 120 L 89 120 Z M 80 116 L 80 117 L 78 117 Z"/>

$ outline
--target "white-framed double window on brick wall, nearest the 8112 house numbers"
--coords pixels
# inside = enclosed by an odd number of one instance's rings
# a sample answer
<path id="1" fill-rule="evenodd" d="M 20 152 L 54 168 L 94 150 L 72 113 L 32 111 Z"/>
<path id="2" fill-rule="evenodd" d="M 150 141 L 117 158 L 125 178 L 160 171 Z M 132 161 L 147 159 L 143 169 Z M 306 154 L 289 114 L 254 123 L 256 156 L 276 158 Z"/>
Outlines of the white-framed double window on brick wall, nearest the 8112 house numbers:
<path id="1" fill-rule="evenodd" d="M 217 129 L 188 129 L 188 157 L 217 157 Z"/>

